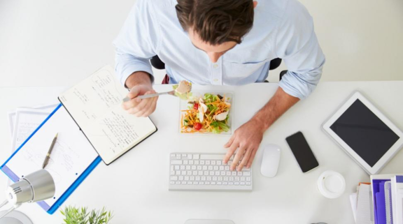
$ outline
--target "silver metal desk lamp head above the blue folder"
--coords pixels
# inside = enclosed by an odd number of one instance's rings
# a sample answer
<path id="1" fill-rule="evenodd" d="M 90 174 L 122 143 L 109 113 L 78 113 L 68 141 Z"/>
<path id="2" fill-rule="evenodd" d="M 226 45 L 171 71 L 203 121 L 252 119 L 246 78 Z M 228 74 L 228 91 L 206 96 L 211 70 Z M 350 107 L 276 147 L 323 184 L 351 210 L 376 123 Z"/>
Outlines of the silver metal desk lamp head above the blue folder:
<path id="1" fill-rule="evenodd" d="M 0 219 L 21 206 L 25 202 L 42 201 L 54 196 L 55 185 L 52 176 L 47 170 L 35 171 L 18 182 L 10 185 L 6 190 L 6 200 L 0 204 L 0 208 L 7 203 L 12 207 L 0 215 Z M 9 217 L 8 217 L 9 218 Z M 1 220 L 0 220 L 1 223 Z M 19 223 L 19 222 L 16 222 Z"/>

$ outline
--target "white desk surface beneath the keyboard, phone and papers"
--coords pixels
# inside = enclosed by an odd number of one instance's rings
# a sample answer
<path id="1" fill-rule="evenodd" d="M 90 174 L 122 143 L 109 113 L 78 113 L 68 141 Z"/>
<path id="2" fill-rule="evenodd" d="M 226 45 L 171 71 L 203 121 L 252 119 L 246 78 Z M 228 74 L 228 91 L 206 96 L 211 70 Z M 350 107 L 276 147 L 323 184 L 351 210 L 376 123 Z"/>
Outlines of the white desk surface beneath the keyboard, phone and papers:
<path id="1" fill-rule="evenodd" d="M 157 91 L 170 89 L 156 86 Z M 194 87 L 195 89 L 198 87 Z M 204 87 L 206 88 L 206 87 Z M 233 87 L 207 87 L 233 89 Z M 270 98 L 276 83 L 244 86 L 235 93 L 235 127 L 246 122 Z M 54 100 L 63 87 L 0 88 L 0 160 L 10 153 L 10 134 L 6 112 L 16 106 L 34 105 Z M 152 115 L 159 131 L 109 166 L 101 163 L 66 200 L 64 205 L 102 208 L 114 211 L 112 223 L 184 223 L 189 218 L 232 219 L 236 224 L 251 223 L 354 223 L 349 194 L 359 181 L 369 176 L 335 145 L 320 129 L 322 122 L 355 90 L 361 90 L 387 117 L 403 129 L 403 81 L 322 82 L 306 100 L 291 108 L 268 130 L 262 145 L 278 144 L 282 159 L 278 175 L 265 178 L 259 172 L 262 151 L 253 164 L 252 192 L 170 192 L 168 191 L 169 153 L 225 152 L 222 145 L 229 137 L 183 136 L 178 134 L 178 101 L 160 96 Z M 253 97 L 251 95 L 258 95 Z M 285 138 L 302 131 L 319 161 L 319 168 L 303 174 Z M 208 141 L 207 141 L 208 140 Z M 403 152 L 382 170 L 394 173 L 403 169 Z M 347 189 L 338 199 L 327 199 L 316 189 L 321 172 L 332 169 L 346 178 Z M 0 175 L 0 195 L 6 176 Z M 0 197 L 1 200 L 4 197 Z M 59 212 L 48 215 L 36 204 L 25 204 L 19 210 L 35 223 L 60 223 Z"/>

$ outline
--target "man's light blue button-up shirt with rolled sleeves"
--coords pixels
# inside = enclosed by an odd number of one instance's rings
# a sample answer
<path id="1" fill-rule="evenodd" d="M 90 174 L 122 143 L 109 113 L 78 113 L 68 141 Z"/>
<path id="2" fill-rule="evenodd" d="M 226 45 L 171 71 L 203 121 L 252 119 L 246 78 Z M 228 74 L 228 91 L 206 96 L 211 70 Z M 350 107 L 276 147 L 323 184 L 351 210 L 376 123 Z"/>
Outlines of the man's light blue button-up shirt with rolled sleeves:
<path id="1" fill-rule="evenodd" d="M 219 0 L 217 0 L 219 1 Z M 114 40 L 116 73 L 124 85 L 135 71 L 153 74 L 149 59 L 165 63 L 170 83 L 187 80 L 202 85 L 263 82 L 270 61 L 282 58 L 288 73 L 279 85 L 288 94 L 307 97 L 319 82 L 325 57 L 312 17 L 296 0 L 258 0 L 253 28 L 241 44 L 217 63 L 195 48 L 176 16 L 176 0 L 138 0 Z M 279 74 L 274 74 L 279 75 Z"/>

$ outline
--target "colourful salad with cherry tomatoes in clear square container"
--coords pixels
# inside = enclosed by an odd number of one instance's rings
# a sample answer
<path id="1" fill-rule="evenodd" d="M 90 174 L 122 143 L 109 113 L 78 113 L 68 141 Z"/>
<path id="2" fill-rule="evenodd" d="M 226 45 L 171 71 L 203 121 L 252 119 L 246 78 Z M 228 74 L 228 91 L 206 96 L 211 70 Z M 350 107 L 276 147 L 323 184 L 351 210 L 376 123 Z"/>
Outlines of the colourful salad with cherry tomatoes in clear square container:
<path id="1" fill-rule="evenodd" d="M 228 132 L 230 98 L 225 95 L 206 93 L 202 97 L 189 99 L 188 107 L 181 110 L 181 133 Z"/>

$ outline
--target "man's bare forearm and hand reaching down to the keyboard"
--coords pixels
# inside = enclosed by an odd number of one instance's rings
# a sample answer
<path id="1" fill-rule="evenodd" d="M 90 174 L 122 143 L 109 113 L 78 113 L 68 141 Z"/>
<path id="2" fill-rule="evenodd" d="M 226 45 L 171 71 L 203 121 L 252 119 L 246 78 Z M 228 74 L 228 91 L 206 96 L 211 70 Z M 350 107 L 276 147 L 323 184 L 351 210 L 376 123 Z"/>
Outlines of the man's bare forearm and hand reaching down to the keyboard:
<path id="1" fill-rule="evenodd" d="M 229 148 L 224 157 L 224 164 L 228 163 L 231 156 L 238 149 L 232 161 L 231 170 L 237 168 L 238 171 L 241 171 L 245 165 L 250 168 L 263 139 L 264 132 L 298 100 L 299 98 L 287 94 L 279 87 L 274 96 L 256 115 L 239 127 L 227 144 L 224 145 L 225 148 Z M 239 161 L 241 162 L 238 165 Z"/>

